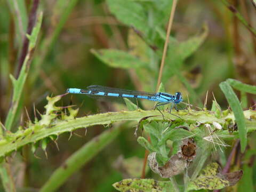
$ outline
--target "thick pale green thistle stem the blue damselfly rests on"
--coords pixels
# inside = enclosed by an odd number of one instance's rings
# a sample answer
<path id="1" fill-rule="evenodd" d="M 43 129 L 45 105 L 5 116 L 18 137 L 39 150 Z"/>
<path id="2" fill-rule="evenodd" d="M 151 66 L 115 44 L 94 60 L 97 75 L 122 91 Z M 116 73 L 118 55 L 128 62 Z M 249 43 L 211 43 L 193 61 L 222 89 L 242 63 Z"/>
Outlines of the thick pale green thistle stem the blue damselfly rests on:
<path id="1" fill-rule="evenodd" d="M 189 122 L 201 122 L 204 123 L 212 123 L 217 122 L 221 125 L 226 123 L 226 119 L 235 120 L 234 114 L 230 113 L 224 118 L 217 118 L 212 113 L 208 111 L 187 111 L 180 110 L 172 111 L 172 114 L 167 113 L 166 111 L 162 112 L 165 119 L 175 120 L 175 119 L 183 119 L 183 121 Z M 49 114 L 51 115 L 51 114 Z M 174 116 L 176 115 L 176 116 Z M 247 110 L 244 111 L 244 115 L 246 118 L 250 118 L 256 115 L 256 111 Z M 123 121 L 135 121 L 139 122 L 140 119 L 146 116 L 153 116 L 151 120 L 163 120 L 163 117 L 159 114 L 159 111 L 156 110 L 135 110 L 135 111 L 119 111 L 113 113 L 105 113 L 105 114 L 96 114 L 90 115 L 80 118 L 68 119 L 61 121 L 57 119 L 57 124 L 45 125 L 43 122 L 45 119 L 49 118 L 49 116 L 44 116 L 42 121 L 39 121 L 35 124 L 30 124 L 26 130 L 20 130 L 17 133 L 8 133 L 5 135 L 3 140 L 0 140 L 0 157 L 9 154 L 11 151 L 17 150 L 18 148 L 28 145 L 29 143 L 36 143 L 39 140 L 50 137 L 50 135 L 60 135 L 64 132 L 72 132 L 76 129 L 83 127 L 90 127 L 93 125 L 106 125 L 114 122 L 123 122 Z M 179 116 L 180 118 L 178 118 Z M 256 121 L 251 119 L 251 121 L 246 121 L 246 127 L 248 132 L 255 130 Z"/>

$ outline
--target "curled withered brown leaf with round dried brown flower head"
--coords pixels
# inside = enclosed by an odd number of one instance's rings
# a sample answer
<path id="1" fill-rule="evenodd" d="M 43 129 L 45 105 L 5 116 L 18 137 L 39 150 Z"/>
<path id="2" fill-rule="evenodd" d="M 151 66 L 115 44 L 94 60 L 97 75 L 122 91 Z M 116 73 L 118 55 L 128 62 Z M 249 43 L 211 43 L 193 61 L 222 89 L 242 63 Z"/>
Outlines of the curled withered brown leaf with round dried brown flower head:
<path id="1" fill-rule="evenodd" d="M 162 178 L 170 178 L 182 173 L 195 157 L 196 145 L 194 140 L 192 138 L 183 139 L 178 153 L 172 155 L 164 166 L 159 166 L 155 152 L 148 155 L 148 165 Z"/>

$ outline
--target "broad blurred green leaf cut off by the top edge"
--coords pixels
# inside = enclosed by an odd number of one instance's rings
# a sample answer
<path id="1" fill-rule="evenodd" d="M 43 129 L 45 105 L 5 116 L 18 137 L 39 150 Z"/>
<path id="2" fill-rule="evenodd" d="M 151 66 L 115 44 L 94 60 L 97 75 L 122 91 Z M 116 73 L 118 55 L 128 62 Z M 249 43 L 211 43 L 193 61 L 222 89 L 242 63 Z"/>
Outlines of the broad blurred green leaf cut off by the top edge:
<path id="1" fill-rule="evenodd" d="M 135 29 L 148 34 L 148 16 L 145 7 L 135 1 L 127 0 L 107 0 L 111 13 L 127 26 L 133 26 Z"/>

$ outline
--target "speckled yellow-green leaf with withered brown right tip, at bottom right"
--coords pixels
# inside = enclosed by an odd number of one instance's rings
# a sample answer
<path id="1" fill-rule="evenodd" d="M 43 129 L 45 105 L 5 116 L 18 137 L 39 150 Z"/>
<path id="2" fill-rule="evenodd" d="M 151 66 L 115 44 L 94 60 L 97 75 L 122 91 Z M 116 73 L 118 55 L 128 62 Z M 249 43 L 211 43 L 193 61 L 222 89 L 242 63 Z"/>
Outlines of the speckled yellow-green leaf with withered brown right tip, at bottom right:
<path id="1" fill-rule="evenodd" d="M 221 173 L 218 163 L 211 163 L 202 170 L 201 174 L 188 184 L 189 190 L 199 189 L 222 189 L 224 187 L 235 185 L 241 179 L 243 171 L 235 171 L 232 173 Z"/>

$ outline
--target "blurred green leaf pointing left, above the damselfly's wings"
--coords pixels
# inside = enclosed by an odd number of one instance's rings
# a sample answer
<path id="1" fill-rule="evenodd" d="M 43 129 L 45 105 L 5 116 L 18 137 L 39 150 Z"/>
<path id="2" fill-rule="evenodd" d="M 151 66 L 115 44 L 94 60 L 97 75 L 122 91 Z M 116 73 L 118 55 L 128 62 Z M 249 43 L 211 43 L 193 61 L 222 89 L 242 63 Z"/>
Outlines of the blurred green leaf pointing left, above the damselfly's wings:
<path id="1" fill-rule="evenodd" d="M 110 67 L 123 69 L 138 69 L 147 67 L 147 63 L 143 62 L 133 55 L 114 49 L 91 50 L 91 52 L 102 62 Z"/>

